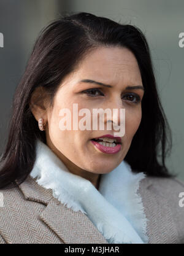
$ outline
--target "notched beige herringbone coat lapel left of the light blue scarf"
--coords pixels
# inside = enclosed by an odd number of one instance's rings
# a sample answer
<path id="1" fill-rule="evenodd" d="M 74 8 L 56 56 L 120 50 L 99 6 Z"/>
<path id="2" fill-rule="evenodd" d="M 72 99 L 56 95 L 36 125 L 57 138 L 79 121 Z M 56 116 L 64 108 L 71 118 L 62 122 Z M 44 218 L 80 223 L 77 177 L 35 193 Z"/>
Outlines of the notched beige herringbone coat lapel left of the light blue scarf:
<path id="1" fill-rule="evenodd" d="M 26 200 L 45 204 L 46 207 L 39 217 L 64 243 L 108 243 L 85 214 L 67 208 L 53 197 L 51 189 L 41 187 L 31 176 L 28 176 L 19 187 Z"/>

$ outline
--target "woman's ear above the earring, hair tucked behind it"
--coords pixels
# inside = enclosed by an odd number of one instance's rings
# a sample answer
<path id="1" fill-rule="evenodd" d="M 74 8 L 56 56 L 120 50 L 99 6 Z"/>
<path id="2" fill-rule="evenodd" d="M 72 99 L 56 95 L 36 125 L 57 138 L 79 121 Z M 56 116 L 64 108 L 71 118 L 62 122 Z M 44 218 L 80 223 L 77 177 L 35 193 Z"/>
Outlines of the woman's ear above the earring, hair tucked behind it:
<path id="1" fill-rule="evenodd" d="M 38 121 L 40 117 L 47 122 L 48 95 L 44 87 L 37 87 L 31 94 L 29 107 L 34 117 Z"/>

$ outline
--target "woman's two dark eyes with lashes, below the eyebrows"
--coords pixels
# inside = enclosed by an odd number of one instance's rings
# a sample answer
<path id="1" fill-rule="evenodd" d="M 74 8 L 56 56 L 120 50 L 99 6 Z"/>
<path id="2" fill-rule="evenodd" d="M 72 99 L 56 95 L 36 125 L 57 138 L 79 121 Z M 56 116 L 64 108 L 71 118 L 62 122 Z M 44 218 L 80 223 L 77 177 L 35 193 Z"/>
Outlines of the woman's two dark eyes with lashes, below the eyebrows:
<path id="1" fill-rule="evenodd" d="M 104 94 L 98 88 L 90 88 L 90 89 L 82 91 L 81 93 L 85 93 L 86 95 L 88 95 L 91 98 L 104 96 Z M 99 93 L 99 94 L 96 94 L 96 93 Z M 137 95 L 137 93 L 126 93 L 125 95 L 123 95 L 123 97 L 121 99 L 128 100 L 134 104 L 140 103 L 140 96 Z"/>

